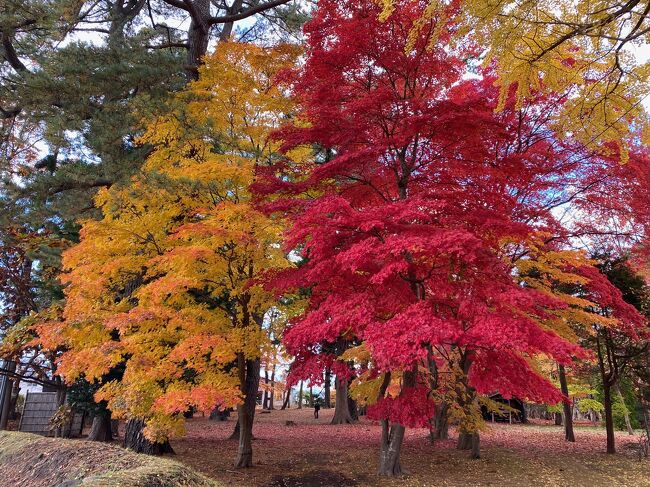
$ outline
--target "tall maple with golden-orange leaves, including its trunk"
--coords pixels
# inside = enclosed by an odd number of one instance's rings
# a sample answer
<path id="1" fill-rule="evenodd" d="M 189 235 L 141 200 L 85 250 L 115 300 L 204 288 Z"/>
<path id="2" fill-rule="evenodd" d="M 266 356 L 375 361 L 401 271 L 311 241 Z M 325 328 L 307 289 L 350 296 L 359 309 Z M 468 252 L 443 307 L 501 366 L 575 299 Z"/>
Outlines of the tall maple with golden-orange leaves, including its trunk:
<path id="1" fill-rule="evenodd" d="M 276 304 L 256 278 L 289 265 L 281 221 L 255 210 L 248 186 L 275 157 L 268 134 L 292 102 L 274 77 L 296 56 L 228 43 L 207 59 L 143 136 L 153 147 L 143 172 L 100 192 L 103 219 L 65 254 L 65 322 L 51 330 L 68 347 L 68 381 L 124 365 L 95 396 L 146 421 L 150 440 L 179 434 L 189 408 L 237 406 L 239 467 L 252 465 L 262 327 Z"/>

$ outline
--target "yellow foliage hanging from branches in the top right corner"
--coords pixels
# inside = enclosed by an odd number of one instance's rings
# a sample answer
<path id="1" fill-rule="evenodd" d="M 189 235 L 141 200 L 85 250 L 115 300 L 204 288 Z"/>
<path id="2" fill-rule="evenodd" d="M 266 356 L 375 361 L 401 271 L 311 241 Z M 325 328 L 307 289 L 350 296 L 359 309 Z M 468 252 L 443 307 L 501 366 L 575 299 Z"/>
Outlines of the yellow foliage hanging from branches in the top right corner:
<path id="1" fill-rule="evenodd" d="M 396 0 L 375 0 L 386 20 Z M 609 150 L 625 163 L 638 133 L 648 133 L 642 102 L 650 93 L 650 62 L 634 50 L 650 42 L 650 18 L 636 4 L 608 0 L 463 0 L 453 43 L 469 34 L 496 67 L 503 108 L 511 88 L 522 106 L 535 92 L 551 93 L 558 110 L 551 125 L 588 147 Z M 429 0 L 410 34 L 411 45 L 431 21 L 441 25 L 449 3 Z M 434 36 L 435 38 L 435 36 Z M 436 42 L 434 40 L 434 42 Z"/>

